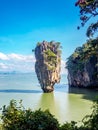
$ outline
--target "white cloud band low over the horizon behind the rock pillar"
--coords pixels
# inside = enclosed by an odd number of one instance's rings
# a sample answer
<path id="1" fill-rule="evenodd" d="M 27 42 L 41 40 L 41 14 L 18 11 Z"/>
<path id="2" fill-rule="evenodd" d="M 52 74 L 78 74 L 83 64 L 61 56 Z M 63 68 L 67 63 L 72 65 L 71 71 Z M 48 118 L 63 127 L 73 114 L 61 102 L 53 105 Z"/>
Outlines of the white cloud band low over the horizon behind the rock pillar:
<path id="1" fill-rule="evenodd" d="M 21 71 L 34 72 L 35 71 L 35 57 L 34 55 L 21 54 L 4 54 L 0 52 L 0 71 Z M 66 63 L 61 61 L 61 74 L 67 74 Z"/>

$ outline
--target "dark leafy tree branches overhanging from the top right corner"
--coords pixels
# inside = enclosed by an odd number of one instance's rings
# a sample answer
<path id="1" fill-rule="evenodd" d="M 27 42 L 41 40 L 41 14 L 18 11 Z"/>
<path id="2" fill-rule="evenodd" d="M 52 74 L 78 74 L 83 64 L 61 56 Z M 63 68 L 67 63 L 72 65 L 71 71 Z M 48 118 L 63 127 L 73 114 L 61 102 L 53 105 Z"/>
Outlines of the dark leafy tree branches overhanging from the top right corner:
<path id="1" fill-rule="evenodd" d="M 83 27 L 91 18 L 98 16 L 98 0 L 78 0 L 75 6 L 80 8 L 80 20 Z M 78 26 L 80 29 L 80 26 Z M 98 21 L 94 21 L 87 29 L 87 37 L 91 37 L 98 31 Z"/>

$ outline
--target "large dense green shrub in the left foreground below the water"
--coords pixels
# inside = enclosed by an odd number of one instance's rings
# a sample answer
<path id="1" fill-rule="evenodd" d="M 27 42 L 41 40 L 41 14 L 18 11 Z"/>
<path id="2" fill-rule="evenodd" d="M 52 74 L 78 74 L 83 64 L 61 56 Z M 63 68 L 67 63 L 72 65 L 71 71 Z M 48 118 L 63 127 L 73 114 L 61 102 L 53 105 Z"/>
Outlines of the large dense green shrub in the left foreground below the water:
<path id="1" fill-rule="evenodd" d="M 3 107 L 2 120 L 5 130 L 58 130 L 58 121 L 48 110 L 25 110 L 11 100 L 8 107 Z"/>

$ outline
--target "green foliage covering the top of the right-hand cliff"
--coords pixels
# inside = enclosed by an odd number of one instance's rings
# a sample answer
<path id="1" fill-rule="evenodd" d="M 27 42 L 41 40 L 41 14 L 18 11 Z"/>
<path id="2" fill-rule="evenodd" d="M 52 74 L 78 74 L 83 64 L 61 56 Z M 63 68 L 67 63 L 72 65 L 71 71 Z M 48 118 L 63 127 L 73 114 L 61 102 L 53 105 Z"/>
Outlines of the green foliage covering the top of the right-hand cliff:
<path id="1" fill-rule="evenodd" d="M 82 47 L 76 48 L 74 53 L 68 58 L 67 68 L 76 73 L 84 68 L 85 63 L 91 57 L 98 58 L 98 38 L 90 39 Z"/>

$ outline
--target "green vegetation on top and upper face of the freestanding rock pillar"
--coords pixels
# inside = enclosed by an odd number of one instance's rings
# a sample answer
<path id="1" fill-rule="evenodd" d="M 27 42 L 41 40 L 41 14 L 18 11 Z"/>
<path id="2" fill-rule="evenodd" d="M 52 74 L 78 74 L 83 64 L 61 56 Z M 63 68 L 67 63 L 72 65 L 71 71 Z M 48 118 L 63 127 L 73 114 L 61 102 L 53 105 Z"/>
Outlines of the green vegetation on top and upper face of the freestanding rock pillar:
<path id="1" fill-rule="evenodd" d="M 48 70 L 55 70 L 57 63 L 61 61 L 61 43 L 43 41 L 37 43 L 36 47 L 39 46 L 43 48 L 42 53 Z"/>

